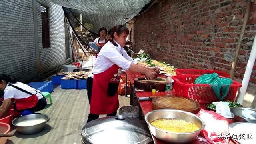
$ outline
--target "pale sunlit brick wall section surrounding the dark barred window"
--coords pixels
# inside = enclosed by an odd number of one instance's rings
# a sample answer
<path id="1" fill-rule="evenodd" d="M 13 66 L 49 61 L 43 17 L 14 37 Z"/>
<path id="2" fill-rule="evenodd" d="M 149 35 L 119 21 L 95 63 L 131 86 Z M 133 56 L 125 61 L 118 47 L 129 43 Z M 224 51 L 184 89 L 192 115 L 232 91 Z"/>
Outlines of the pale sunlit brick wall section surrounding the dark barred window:
<path id="1" fill-rule="evenodd" d="M 42 21 L 40 5 L 49 8 L 50 19 L 50 47 L 43 48 L 42 45 Z M 38 35 L 39 35 L 39 49 L 40 49 L 40 64 L 41 72 L 47 72 L 56 67 L 65 64 L 66 50 L 65 50 L 65 23 L 64 12 L 61 6 L 51 4 L 46 0 L 38 0 Z"/>

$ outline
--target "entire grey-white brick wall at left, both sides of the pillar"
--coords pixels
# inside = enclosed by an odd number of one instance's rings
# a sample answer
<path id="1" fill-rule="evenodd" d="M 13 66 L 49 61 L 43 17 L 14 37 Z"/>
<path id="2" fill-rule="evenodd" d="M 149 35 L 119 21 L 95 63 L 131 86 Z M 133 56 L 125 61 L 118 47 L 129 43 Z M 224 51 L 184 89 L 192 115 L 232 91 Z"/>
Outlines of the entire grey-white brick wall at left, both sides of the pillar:
<path id="1" fill-rule="evenodd" d="M 49 7 L 49 48 L 42 48 L 40 4 Z M 67 62 L 64 13 L 61 6 L 46 0 L 37 1 L 37 11 L 40 73 L 44 73 Z M 20 81 L 31 80 L 38 75 L 32 0 L 0 1 L 0 50 L 0 73 L 14 75 Z"/>

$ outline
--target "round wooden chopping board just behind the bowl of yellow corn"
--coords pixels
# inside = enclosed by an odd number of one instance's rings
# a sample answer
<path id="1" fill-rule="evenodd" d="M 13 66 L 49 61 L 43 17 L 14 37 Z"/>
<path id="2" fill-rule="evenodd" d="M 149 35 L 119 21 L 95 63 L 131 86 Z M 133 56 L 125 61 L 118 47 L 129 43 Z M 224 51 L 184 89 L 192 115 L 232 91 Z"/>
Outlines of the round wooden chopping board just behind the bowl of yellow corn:
<path id="1" fill-rule="evenodd" d="M 180 96 L 158 96 L 152 99 L 152 110 L 165 108 L 184 110 L 197 114 L 200 110 L 200 104 Z"/>

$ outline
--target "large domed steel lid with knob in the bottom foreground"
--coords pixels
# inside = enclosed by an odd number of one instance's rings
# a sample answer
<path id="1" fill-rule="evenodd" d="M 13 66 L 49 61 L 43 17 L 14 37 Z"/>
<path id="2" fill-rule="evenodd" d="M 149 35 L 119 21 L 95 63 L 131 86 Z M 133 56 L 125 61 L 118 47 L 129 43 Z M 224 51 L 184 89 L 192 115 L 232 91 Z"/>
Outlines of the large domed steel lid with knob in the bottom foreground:
<path id="1" fill-rule="evenodd" d="M 98 118 L 82 128 L 82 144 L 152 144 L 146 122 L 125 116 Z"/>

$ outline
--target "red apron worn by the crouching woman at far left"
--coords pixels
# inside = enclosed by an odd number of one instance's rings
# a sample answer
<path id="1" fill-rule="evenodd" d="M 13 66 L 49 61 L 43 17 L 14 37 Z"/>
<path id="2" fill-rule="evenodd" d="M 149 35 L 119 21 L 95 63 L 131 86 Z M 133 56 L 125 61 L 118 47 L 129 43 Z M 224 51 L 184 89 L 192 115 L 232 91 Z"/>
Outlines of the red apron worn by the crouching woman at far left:
<path id="1" fill-rule="evenodd" d="M 17 110 L 24 110 L 28 108 L 33 108 L 38 103 L 38 97 L 34 94 L 28 98 L 21 98 L 21 99 L 12 99 L 16 105 Z"/>

